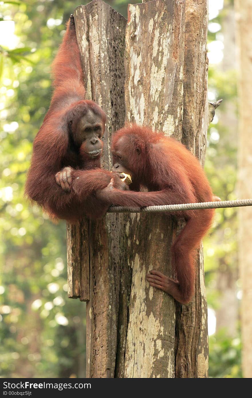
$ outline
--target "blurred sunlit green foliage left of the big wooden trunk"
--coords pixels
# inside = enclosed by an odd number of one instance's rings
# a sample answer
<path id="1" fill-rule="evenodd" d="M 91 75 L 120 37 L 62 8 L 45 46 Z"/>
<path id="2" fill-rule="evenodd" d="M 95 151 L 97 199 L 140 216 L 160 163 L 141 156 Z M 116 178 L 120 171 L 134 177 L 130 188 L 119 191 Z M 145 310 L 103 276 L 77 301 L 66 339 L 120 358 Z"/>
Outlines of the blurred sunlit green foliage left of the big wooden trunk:
<path id="1" fill-rule="evenodd" d="M 3 6 L 19 41 L 0 54 L 0 377 L 84 376 L 85 307 L 67 298 L 65 223 L 53 224 L 23 198 L 32 142 L 50 103 L 50 64 L 78 4 Z"/>

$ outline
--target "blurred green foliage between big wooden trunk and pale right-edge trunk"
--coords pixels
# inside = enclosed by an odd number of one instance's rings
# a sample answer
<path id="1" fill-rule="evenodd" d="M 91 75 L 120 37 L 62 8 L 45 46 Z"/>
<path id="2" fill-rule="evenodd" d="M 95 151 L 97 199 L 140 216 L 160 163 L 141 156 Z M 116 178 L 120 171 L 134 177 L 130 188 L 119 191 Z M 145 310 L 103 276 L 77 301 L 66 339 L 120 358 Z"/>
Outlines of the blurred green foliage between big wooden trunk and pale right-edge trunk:
<path id="1" fill-rule="evenodd" d="M 232 12 L 233 2 L 225 0 L 224 8 L 217 18 L 223 26 L 224 19 Z M 226 22 L 227 26 L 227 22 Z M 209 33 L 208 41 L 220 39 L 220 34 L 229 35 L 229 30 Z M 232 43 L 234 46 L 234 43 Z M 228 49 L 226 49 L 228 51 Z M 213 192 L 222 200 L 238 199 L 236 195 L 237 179 L 237 74 L 234 66 L 225 70 L 217 64 L 209 65 L 209 92 L 214 96 L 211 102 L 223 99 L 216 110 L 213 123 L 209 126 L 205 171 Z M 205 283 L 208 305 L 218 312 L 222 305 L 223 289 L 218 287 L 220 274 L 229 280 L 233 275 L 235 281 L 238 274 L 237 240 L 238 240 L 237 209 L 218 209 L 211 234 L 204 239 Z M 233 294 L 236 294 L 239 283 L 233 283 Z M 220 289 L 220 290 L 219 290 Z M 226 305 L 228 305 L 226 303 Z M 218 325 L 217 325 L 218 326 Z M 242 377 L 240 330 L 236 336 L 230 337 L 228 330 L 220 330 L 209 338 L 209 376 L 210 377 Z"/>

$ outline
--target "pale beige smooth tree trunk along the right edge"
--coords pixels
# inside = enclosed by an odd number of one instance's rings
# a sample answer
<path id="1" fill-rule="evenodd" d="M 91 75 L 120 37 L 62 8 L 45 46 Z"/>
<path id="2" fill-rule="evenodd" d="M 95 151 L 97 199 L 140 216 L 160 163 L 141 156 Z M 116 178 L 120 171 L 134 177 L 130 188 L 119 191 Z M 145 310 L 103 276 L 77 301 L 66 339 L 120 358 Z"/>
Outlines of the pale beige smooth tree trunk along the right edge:
<path id="1" fill-rule="evenodd" d="M 252 2 L 236 0 L 240 49 L 239 197 L 252 197 Z M 252 208 L 240 209 L 240 275 L 242 278 L 242 368 L 252 377 Z"/>

